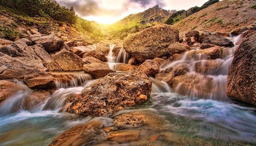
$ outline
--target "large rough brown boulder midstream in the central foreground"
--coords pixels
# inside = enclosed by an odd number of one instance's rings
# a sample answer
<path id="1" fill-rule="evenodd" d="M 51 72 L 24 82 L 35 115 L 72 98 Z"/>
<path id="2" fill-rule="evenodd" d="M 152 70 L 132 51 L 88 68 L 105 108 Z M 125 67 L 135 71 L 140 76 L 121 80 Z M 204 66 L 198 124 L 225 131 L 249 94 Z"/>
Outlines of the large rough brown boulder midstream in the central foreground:
<path id="1" fill-rule="evenodd" d="M 72 102 L 68 112 L 79 115 L 102 116 L 108 111 L 119 111 L 123 107 L 145 102 L 141 94 L 150 97 L 152 83 L 141 72 L 110 73 L 90 90 L 82 91 Z"/>

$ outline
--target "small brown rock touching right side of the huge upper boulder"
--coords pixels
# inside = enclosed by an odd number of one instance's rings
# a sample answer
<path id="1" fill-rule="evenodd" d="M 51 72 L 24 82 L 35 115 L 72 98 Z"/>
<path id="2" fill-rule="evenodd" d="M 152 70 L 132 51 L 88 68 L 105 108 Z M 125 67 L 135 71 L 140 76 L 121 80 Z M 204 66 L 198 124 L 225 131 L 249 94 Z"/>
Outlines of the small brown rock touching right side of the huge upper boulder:
<path id="1" fill-rule="evenodd" d="M 173 43 L 168 47 L 168 53 L 172 56 L 174 54 L 182 54 L 189 50 L 189 46 L 183 43 Z"/>

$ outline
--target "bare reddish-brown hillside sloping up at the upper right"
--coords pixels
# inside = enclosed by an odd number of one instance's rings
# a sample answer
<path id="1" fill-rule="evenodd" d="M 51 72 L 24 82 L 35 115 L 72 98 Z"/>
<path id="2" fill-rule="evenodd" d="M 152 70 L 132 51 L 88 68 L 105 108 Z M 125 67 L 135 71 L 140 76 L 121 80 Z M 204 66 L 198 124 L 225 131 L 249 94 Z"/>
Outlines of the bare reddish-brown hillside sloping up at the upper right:
<path id="1" fill-rule="evenodd" d="M 189 30 L 229 32 L 256 21 L 255 1 L 223 0 L 173 24 L 184 36 Z M 254 7 L 253 7 L 254 6 Z"/>

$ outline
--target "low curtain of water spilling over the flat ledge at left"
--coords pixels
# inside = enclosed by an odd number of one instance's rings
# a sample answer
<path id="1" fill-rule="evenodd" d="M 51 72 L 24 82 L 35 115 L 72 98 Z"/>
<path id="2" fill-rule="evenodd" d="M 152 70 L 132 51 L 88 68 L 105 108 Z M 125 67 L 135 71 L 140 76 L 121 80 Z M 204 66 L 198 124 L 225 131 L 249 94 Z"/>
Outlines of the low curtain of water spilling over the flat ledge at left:
<path id="1" fill-rule="evenodd" d="M 55 81 L 55 85 L 57 89 L 60 88 L 68 88 L 68 87 L 78 87 L 83 86 L 86 84 L 88 80 L 93 79 L 93 77 L 90 74 L 74 74 L 75 78 L 70 80 L 69 82 L 63 83 L 59 81 Z"/>

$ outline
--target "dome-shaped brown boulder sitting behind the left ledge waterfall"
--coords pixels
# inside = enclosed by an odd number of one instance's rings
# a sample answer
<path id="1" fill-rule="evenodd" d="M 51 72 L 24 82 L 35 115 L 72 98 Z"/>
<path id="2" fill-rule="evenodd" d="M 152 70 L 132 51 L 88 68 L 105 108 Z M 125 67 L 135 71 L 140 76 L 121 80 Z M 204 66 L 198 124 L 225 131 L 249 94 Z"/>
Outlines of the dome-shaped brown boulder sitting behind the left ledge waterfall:
<path id="1" fill-rule="evenodd" d="M 47 69 L 49 71 L 82 71 L 83 62 L 78 55 L 62 49 L 53 56 L 52 61 L 47 65 Z"/>

